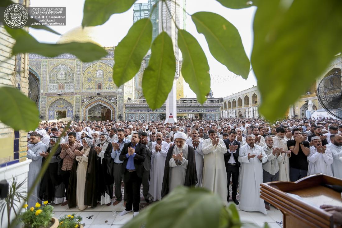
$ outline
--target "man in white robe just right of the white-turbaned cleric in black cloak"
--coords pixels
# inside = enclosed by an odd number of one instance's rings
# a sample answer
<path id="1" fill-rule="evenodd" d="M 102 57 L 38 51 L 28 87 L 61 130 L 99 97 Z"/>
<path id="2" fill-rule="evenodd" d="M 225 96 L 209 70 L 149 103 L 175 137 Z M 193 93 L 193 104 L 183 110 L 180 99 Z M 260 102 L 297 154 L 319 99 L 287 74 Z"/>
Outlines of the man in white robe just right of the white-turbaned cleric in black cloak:
<path id="1" fill-rule="evenodd" d="M 203 174 L 203 152 L 202 152 L 202 144 L 203 140 L 198 137 L 198 131 L 193 129 L 191 131 L 191 138 L 185 141 L 187 145 L 193 147 L 195 149 L 195 159 L 196 159 L 196 172 L 198 182 L 196 187 L 202 187 L 202 174 Z"/>

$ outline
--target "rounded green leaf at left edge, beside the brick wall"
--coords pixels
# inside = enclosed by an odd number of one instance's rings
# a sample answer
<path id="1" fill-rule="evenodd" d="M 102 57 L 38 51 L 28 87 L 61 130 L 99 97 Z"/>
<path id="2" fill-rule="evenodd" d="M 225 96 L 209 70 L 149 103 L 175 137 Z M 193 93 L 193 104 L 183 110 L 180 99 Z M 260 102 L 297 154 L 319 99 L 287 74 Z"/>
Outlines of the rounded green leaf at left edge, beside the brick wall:
<path id="1" fill-rule="evenodd" d="M 14 130 L 34 130 L 39 124 L 36 104 L 13 87 L 0 87 L 0 121 Z"/>

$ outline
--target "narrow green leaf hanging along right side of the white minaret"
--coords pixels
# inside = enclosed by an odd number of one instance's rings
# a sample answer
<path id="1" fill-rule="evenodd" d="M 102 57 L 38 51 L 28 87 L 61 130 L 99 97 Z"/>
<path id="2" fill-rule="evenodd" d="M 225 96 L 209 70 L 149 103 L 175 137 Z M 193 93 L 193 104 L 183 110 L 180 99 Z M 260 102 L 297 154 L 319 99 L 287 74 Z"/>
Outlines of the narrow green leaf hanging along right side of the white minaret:
<path id="1" fill-rule="evenodd" d="M 183 55 L 182 75 L 203 104 L 210 91 L 209 65 L 198 41 L 185 30 L 178 30 L 178 46 Z"/>

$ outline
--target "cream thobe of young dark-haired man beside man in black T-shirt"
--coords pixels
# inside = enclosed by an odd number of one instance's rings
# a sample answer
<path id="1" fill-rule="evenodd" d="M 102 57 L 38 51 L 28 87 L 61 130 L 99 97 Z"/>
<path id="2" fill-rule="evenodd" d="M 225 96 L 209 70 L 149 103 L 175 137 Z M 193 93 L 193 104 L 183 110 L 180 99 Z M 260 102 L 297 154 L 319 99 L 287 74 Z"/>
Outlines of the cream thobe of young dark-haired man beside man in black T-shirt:
<path id="1" fill-rule="evenodd" d="M 282 148 L 283 151 L 287 151 L 287 140 L 281 139 L 278 136 L 273 137 L 273 146 Z M 289 161 L 289 155 L 283 154 L 284 156 L 281 157 L 281 159 L 278 159 L 278 165 L 279 165 L 279 181 L 290 181 L 290 161 Z"/>

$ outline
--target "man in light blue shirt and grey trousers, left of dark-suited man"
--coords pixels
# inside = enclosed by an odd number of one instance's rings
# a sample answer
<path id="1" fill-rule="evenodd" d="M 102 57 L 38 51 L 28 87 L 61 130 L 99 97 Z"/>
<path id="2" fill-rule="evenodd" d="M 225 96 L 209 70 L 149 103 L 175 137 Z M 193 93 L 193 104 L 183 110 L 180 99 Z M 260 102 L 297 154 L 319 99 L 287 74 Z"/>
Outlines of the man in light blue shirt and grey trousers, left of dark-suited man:
<path id="1" fill-rule="evenodd" d="M 113 175 L 114 175 L 114 183 L 115 183 L 115 190 L 114 194 L 116 197 L 116 201 L 114 201 L 113 205 L 117 205 L 122 200 L 122 192 L 121 192 L 121 180 L 123 180 L 123 173 L 121 173 L 121 166 L 123 161 L 120 161 L 119 156 L 123 149 L 125 143 L 130 142 L 130 140 L 125 138 L 125 131 L 123 129 L 118 130 L 118 139 L 117 142 L 112 142 L 113 150 L 111 152 L 111 158 L 114 159 L 113 165 Z M 124 206 L 126 205 L 126 188 L 124 188 L 123 193 L 123 201 Z"/>

